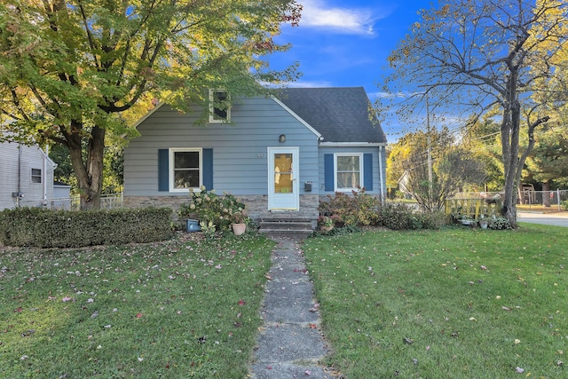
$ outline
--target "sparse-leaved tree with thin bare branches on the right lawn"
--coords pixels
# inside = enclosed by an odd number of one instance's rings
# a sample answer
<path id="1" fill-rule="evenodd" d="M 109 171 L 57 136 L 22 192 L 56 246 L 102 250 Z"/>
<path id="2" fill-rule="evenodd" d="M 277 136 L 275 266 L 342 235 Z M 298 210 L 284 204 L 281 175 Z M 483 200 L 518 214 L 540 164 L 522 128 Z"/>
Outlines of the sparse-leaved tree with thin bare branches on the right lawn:
<path id="1" fill-rule="evenodd" d="M 546 84 L 561 79 L 556 56 L 568 37 L 567 8 L 561 0 L 448 0 L 422 11 L 421 22 L 389 58 L 394 72 L 385 89 L 422 93 L 400 107 L 402 114 L 425 96 L 456 113 L 481 116 L 499 108 L 501 212 L 512 225 L 517 225 L 517 185 L 534 146 L 534 130 L 549 119 L 542 99 L 555 98 L 553 92 L 562 87 Z M 523 150 L 521 128 L 528 138 Z"/>

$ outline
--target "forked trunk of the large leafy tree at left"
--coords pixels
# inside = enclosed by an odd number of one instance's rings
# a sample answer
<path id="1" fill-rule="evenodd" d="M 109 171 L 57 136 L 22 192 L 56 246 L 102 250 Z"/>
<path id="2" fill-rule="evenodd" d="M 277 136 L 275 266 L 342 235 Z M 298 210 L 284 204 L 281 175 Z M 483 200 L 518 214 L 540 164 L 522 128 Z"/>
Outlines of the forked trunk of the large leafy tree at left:
<path id="1" fill-rule="evenodd" d="M 83 160 L 81 138 L 75 134 L 67 138 L 67 141 L 69 142 L 71 164 L 81 192 L 81 209 L 99 209 L 100 192 L 103 185 L 105 129 L 97 126 L 92 128 L 85 160 Z"/>

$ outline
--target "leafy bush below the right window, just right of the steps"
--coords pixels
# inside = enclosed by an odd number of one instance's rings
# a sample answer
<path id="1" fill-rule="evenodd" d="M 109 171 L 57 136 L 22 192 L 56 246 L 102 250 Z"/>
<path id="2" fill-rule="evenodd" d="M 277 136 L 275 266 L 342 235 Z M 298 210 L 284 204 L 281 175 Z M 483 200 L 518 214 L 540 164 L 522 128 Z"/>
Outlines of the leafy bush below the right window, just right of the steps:
<path id="1" fill-rule="evenodd" d="M 319 202 L 319 214 L 333 216 L 339 225 L 376 225 L 379 215 L 377 210 L 381 205 L 375 196 L 365 193 L 365 188 L 347 193 L 327 195 L 327 201 Z"/>

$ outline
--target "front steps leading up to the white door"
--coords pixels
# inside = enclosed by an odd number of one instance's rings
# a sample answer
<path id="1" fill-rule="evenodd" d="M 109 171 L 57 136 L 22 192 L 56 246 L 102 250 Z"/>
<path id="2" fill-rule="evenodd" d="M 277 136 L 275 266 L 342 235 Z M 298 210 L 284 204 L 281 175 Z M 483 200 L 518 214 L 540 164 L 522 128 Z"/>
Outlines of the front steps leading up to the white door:
<path id="1" fill-rule="evenodd" d="M 271 212 L 264 214 L 257 220 L 260 233 L 275 236 L 304 236 L 313 233 L 317 225 L 317 218 L 300 216 L 292 212 Z"/>

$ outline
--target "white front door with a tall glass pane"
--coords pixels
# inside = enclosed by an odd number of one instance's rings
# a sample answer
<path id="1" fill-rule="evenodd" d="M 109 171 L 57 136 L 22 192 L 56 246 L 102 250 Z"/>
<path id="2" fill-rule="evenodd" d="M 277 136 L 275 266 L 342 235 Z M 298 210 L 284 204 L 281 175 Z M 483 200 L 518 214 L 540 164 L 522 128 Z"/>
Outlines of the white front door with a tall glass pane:
<path id="1" fill-rule="evenodd" d="M 268 209 L 299 209 L 298 152 L 297 147 L 268 147 Z"/>

